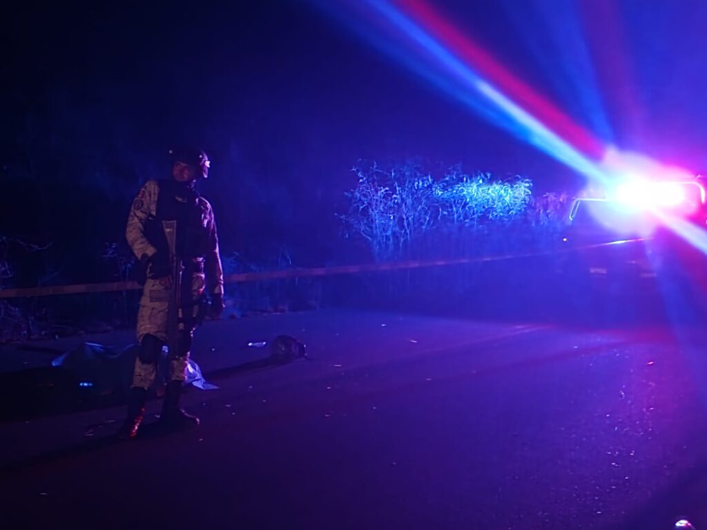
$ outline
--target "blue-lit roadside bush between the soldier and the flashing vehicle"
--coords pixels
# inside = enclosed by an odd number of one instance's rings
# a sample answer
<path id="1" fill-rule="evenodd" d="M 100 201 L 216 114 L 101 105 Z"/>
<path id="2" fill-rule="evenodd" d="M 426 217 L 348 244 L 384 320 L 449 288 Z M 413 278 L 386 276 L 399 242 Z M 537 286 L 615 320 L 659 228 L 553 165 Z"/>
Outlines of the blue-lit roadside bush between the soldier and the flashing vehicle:
<path id="1" fill-rule="evenodd" d="M 460 165 L 435 176 L 417 163 L 352 171 L 358 182 L 339 218 L 375 261 L 548 249 L 563 225 L 567 196 L 535 201 L 525 177 L 471 175 Z"/>

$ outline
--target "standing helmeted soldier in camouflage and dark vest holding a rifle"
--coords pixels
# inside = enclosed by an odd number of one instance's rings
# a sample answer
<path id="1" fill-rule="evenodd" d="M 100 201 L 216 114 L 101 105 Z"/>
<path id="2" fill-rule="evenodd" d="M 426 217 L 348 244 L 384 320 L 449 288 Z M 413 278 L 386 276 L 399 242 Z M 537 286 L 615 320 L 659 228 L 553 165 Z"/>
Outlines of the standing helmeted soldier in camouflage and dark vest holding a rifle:
<path id="1" fill-rule="evenodd" d="M 120 437 L 134 438 L 142 422 L 148 389 L 155 382 L 160 353 L 169 347 L 165 399 L 160 423 L 168 428 L 199 425 L 180 408 L 194 328 L 211 296 L 211 317 L 223 312 L 223 271 L 211 205 L 196 190 L 209 175 L 204 151 L 171 151 L 172 177 L 148 180 L 133 201 L 125 232 L 147 278 L 137 317 L 135 360 L 127 420 Z"/>

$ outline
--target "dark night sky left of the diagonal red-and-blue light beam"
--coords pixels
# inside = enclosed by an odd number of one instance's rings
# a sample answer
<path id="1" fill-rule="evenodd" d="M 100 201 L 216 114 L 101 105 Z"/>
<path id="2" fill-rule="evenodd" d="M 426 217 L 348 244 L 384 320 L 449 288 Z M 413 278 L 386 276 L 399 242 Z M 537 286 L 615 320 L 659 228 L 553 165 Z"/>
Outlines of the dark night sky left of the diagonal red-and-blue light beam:
<path id="1" fill-rule="evenodd" d="M 335 216 L 360 158 L 542 174 L 547 189 L 578 180 L 301 2 L 13 10 L 0 237 L 49 247 L 4 243 L 4 285 L 115 278 L 106 248 L 122 245 L 132 196 L 168 176 L 177 143 L 211 155 L 201 191 L 223 253 L 263 267 L 283 253 L 303 266 L 363 259 L 339 245 Z"/>

